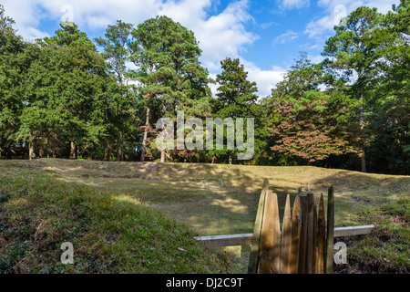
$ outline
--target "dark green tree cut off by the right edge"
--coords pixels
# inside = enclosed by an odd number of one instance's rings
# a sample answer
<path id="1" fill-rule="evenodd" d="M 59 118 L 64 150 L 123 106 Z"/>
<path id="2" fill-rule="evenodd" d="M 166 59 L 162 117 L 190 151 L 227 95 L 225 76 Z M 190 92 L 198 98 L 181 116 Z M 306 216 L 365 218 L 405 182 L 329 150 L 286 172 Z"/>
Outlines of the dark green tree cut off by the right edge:
<path id="1" fill-rule="evenodd" d="M 368 147 L 373 172 L 410 172 L 410 1 L 387 13 L 378 34 L 380 74 L 374 78 Z"/>

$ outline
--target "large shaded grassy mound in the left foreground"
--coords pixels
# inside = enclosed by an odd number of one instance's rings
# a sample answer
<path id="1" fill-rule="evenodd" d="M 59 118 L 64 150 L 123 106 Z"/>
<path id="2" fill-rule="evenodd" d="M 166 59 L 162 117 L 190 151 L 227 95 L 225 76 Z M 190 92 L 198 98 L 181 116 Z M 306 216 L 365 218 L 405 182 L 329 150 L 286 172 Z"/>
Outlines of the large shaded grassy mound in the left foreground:
<path id="1" fill-rule="evenodd" d="M 63 265 L 61 245 L 74 246 Z M 227 273 L 188 227 L 123 193 L 0 163 L 0 273 Z"/>

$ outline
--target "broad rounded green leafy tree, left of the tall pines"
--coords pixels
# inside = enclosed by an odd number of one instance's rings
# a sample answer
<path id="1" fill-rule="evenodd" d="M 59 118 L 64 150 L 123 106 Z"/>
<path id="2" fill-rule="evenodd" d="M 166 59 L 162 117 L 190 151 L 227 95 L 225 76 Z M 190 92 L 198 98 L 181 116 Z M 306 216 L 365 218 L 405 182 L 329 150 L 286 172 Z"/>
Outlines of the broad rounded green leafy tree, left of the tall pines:
<path id="1" fill-rule="evenodd" d="M 24 78 L 26 108 L 19 138 L 58 137 L 70 144 L 72 159 L 99 147 L 108 135 L 105 102 L 110 102 L 108 95 L 113 99 L 118 93 L 110 86 L 116 81 L 108 76 L 94 44 L 76 25 L 61 25 L 56 36 L 46 37 L 27 54 L 35 61 Z"/>

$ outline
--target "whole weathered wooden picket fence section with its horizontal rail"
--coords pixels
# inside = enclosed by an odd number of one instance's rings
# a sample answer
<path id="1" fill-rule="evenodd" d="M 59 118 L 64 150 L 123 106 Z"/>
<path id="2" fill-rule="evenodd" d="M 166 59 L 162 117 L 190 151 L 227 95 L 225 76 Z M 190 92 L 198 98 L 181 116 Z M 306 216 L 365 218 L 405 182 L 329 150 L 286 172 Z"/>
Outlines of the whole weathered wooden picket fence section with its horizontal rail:
<path id="1" fill-rule="evenodd" d="M 328 188 L 327 218 L 321 193 L 319 207 L 313 193 L 286 198 L 282 226 L 278 198 L 264 180 L 253 234 L 196 237 L 208 246 L 250 245 L 250 274 L 333 273 L 333 238 L 364 235 L 374 225 L 334 228 L 333 186 Z"/>

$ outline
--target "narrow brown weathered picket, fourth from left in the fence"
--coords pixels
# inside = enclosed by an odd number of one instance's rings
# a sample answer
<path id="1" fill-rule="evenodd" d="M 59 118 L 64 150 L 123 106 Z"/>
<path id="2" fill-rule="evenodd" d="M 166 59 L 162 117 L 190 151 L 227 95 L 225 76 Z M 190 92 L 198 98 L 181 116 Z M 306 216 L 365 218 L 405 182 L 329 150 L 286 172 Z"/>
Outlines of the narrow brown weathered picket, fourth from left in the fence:
<path id="1" fill-rule="evenodd" d="M 302 202 L 299 195 L 296 196 L 292 210 L 292 230 L 291 230 L 291 256 L 289 260 L 290 274 L 296 274 L 299 270 L 299 242 L 302 230 Z"/>

